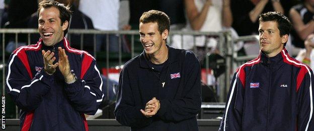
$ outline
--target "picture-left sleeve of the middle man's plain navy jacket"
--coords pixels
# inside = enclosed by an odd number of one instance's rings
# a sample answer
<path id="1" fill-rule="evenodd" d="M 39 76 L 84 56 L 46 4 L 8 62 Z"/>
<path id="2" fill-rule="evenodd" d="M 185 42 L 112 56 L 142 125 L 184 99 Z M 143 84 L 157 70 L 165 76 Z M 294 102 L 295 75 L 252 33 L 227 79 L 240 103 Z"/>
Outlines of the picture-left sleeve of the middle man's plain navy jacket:
<path id="1" fill-rule="evenodd" d="M 140 112 L 144 107 L 135 106 L 130 80 L 126 67 L 121 71 L 119 78 L 119 91 L 114 114 L 122 125 L 142 127 L 152 122 L 152 118 L 146 118 Z"/>

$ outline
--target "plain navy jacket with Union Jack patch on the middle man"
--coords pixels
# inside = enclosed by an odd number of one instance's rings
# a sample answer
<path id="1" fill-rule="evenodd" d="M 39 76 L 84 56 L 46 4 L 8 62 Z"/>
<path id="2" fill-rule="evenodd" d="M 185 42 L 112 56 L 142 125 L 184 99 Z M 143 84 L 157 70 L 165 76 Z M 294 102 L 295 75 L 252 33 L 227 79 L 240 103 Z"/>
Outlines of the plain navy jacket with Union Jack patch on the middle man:
<path id="1" fill-rule="evenodd" d="M 161 72 L 154 70 L 145 51 L 129 60 L 120 74 L 116 119 L 131 130 L 198 130 L 196 114 L 201 108 L 200 63 L 191 51 L 169 49 Z M 162 87 L 159 76 L 166 82 Z M 160 100 L 160 109 L 146 118 L 140 109 L 152 97 Z"/>

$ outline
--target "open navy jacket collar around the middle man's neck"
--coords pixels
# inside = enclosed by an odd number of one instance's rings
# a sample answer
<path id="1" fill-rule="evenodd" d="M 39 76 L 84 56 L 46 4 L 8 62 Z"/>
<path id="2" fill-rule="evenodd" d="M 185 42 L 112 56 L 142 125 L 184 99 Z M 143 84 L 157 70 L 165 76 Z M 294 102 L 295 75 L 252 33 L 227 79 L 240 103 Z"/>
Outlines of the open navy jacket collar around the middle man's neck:
<path id="1" fill-rule="evenodd" d="M 168 63 L 177 61 L 175 48 L 169 46 L 168 44 L 166 44 L 166 46 L 168 47 Z M 139 55 L 139 65 L 141 68 L 149 68 L 149 59 L 145 54 L 145 50 L 143 50 L 143 52 Z"/>

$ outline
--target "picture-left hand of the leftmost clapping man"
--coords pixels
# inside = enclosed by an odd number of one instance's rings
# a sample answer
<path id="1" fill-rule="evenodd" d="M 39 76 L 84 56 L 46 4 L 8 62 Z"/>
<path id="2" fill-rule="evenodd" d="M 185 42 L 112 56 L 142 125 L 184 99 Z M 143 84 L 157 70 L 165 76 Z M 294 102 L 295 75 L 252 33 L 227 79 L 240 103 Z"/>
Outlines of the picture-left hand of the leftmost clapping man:
<path id="1" fill-rule="evenodd" d="M 54 56 L 54 52 L 51 52 L 50 50 L 48 50 L 47 52 L 45 50 L 42 50 L 41 53 L 44 59 L 44 70 L 47 74 L 52 75 L 58 67 L 58 62 L 53 64 L 54 60 L 56 59 L 56 57 Z"/>

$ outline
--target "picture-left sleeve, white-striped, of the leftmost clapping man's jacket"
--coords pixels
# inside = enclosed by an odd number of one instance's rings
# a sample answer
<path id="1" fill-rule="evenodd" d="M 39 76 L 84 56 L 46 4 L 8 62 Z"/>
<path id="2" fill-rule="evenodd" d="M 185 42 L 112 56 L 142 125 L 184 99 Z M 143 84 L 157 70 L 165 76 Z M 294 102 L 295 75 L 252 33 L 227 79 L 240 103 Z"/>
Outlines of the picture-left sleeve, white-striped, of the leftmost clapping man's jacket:
<path id="1" fill-rule="evenodd" d="M 9 58 L 6 91 L 19 108 L 30 111 L 39 106 L 54 79 L 44 71 L 39 71 L 32 78 L 27 70 L 30 69 L 13 53 Z"/>

